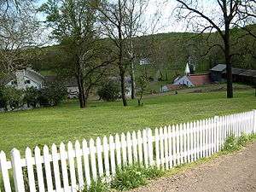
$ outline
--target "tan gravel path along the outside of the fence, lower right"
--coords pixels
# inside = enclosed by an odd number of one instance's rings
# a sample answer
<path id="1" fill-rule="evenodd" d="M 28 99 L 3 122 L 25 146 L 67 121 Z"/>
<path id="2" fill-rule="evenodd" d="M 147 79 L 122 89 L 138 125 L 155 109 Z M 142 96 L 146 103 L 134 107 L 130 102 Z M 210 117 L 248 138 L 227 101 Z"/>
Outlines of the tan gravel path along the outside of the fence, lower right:
<path id="1" fill-rule="evenodd" d="M 162 177 L 133 192 L 256 191 L 256 142 L 236 154 L 179 173 Z"/>

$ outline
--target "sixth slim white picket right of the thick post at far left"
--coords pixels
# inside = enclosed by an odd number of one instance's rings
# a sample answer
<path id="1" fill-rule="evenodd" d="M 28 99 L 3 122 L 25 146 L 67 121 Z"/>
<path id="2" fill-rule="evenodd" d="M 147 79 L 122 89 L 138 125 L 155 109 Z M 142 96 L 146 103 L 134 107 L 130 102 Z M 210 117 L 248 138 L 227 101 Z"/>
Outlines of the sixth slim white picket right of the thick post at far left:
<path id="1" fill-rule="evenodd" d="M 67 143 L 67 158 L 68 158 L 68 165 L 69 165 L 69 173 L 70 173 L 70 180 L 71 180 L 71 190 L 73 192 L 77 192 L 77 179 L 76 179 L 76 171 L 75 171 L 75 164 L 74 164 L 74 157 L 75 153 L 73 150 L 73 143 Z"/>

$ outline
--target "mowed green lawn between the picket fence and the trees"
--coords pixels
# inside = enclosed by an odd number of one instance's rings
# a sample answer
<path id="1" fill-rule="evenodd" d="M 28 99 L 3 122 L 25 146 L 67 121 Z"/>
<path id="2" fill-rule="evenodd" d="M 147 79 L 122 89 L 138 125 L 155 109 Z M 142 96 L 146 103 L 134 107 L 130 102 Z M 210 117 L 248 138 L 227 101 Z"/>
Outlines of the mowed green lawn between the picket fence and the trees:
<path id="1" fill-rule="evenodd" d="M 78 101 L 68 101 L 55 108 L 0 113 L 0 150 L 9 154 L 18 148 L 23 154 L 27 146 L 81 141 L 256 108 L 254 90 L 237 90 L 233 99 L 225 96 L 224 91 L 149 96 L 143 107 L 129 101 L 126 108 L 121 102 L 90 101 L 89 108 L 80 109 Z"/>

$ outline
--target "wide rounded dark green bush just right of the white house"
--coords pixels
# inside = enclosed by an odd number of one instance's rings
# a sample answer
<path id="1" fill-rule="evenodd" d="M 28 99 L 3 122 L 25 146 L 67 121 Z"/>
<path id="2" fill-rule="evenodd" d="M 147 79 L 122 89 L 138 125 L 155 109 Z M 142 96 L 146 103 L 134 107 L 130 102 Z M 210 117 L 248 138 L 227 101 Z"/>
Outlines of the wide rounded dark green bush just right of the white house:
<path id="1" fill-rule="evenodd" d="M 46 86 L 39 92 L 40 96 L 38 99 L 40 105 L 43 106 L 56 106 L 67 97 L 67 89 L 65 85 L 57 81 L 46 84 Z"/>

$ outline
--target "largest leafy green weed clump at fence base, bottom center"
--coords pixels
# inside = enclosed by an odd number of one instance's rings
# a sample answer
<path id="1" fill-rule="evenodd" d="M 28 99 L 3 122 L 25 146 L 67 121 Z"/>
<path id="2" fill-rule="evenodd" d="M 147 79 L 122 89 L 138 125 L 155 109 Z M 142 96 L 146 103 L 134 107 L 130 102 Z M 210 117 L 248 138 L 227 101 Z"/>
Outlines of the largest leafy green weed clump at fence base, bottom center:
<path id="1" fill-rule="evenodd" d="M 126 166 L 123 169 L 118 169 L 116 176 L 111 183 L 111 187 L 117 190 L 134 189 L 145 185 L 147 179 L 160 177 L 163 174 L 156 167 L 145 168 L 139 165 Z"/>

